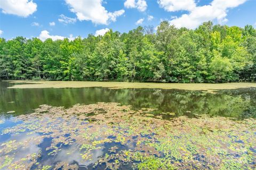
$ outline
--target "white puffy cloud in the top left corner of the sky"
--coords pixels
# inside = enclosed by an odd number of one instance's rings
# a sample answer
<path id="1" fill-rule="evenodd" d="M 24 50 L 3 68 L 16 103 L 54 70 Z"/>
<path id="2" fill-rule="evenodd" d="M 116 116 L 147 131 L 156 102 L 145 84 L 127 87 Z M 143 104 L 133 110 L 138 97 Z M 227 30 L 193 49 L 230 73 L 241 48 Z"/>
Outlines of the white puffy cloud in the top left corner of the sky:
<path id="1" fill-rule="evenodd" d="M 5 14 L 27 17 L 36 11 L 37 5 L 32 0 L 0 0 L 0 8 Z"/>

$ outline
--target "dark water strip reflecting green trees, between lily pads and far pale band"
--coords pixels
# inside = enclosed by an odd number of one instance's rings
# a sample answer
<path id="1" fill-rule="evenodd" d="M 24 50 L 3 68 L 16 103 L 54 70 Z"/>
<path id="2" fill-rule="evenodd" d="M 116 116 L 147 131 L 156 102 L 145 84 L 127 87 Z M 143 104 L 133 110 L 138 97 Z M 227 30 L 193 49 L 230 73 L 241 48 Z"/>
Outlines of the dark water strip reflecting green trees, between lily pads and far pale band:
<path id="1" fill-rule="evenodd" d="M 256 89 L 202 91 L 165 89 L 45 88 L 7 89 L 12 83 L 0 82 L 0 113 L 5 116 L 30 113 L 39 105 L 70 107 L 75 104 L 116 102 L 136 108 L 157 108 L 157 113 L 175 116 L 209 114 L 211 116 L 256 117 Z M 14 111 L 14 113 L 7 113 Z M 168 118 L 168 117 L 166 117 Z"/>

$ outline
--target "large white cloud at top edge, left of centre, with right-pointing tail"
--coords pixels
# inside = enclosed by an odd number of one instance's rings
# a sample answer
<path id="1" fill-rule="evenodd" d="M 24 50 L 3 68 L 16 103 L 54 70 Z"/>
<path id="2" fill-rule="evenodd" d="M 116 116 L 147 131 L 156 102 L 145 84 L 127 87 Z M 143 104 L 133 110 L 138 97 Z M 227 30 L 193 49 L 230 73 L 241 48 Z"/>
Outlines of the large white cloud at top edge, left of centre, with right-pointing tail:
<path id="1" fill-rule="evenodd" d="M 124 10 L 108 12 L 102 6 L 102 0 L 76 1 L 66 0 L 70 6 L 70 11 L 74 12 L 79 21 L 92 21 L 95 24 L 107 25 L 110 21 L 115 22 L 118 16 L 124 14 Z"/>

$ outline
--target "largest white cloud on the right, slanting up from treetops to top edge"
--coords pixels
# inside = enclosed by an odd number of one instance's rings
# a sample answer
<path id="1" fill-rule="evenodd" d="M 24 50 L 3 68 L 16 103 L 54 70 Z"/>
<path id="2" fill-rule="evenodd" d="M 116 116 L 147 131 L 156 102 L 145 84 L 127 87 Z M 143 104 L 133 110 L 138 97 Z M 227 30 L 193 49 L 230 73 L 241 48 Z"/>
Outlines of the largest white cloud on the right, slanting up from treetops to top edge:
<path id="1" fill-rule="evenodd" d="M 205 21 L 217 20 L 218 23 L 227 22 L 226 19 L 228 8 L 237 7 L 247 0 L 213 0 L 211 4 L 196 6 L 189 14 L 183 14 L 179 18 L 170 21 L 176 27 L 187 27 L 190 29 L 197 28 Z"/>

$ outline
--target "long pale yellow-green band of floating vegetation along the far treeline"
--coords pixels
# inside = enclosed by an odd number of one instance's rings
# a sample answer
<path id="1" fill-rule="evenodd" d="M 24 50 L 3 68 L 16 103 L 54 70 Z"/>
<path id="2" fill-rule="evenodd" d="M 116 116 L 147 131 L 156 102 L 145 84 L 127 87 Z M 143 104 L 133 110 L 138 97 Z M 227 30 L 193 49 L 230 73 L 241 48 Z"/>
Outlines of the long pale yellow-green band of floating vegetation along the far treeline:
<path id="1" fill-rule="evenodd" d="M 256 83 L 137 83 L 137 82 L 95 82 L 95 81 L 9 81 L 14 84 L 9 88 L 84 88 L 106 87 L 111 89 L 150 88 L 205 90 L 212 92 L 221 89 L 256 88 Z"/>

